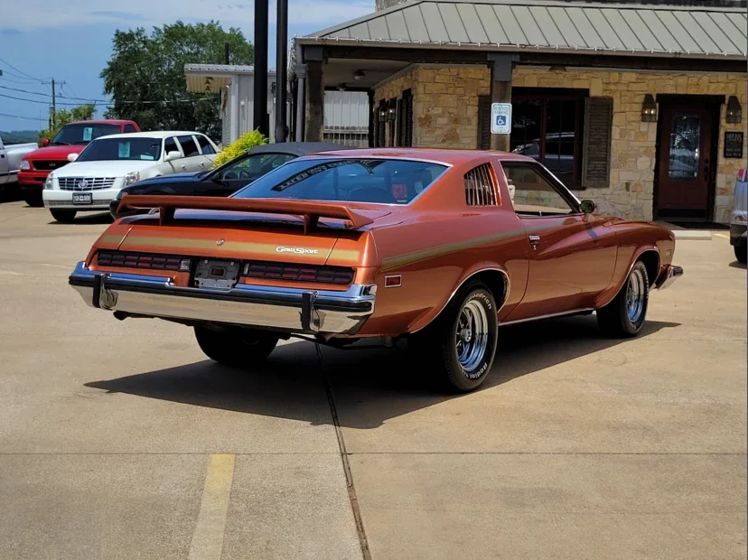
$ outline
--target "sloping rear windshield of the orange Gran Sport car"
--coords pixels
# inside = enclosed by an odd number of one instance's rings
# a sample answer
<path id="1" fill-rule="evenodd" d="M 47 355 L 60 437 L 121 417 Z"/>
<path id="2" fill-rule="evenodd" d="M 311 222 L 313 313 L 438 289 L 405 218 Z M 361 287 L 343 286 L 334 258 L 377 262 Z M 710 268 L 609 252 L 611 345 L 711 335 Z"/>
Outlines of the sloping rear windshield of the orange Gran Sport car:
<path id="1" fill-rule="evenodd" d="M 240 199 L 407 204 L 444 173 L 440 163 L 388 159 L 294 160 L 233 196 Z"/>

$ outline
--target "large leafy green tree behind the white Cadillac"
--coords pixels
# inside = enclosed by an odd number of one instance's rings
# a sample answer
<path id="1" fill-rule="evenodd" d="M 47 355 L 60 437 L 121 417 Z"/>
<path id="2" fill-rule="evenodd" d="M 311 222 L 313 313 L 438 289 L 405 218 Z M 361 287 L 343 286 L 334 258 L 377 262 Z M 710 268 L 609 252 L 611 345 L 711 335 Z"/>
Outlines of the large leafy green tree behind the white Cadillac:
<path id="1" fill-rule="evenodd" d="M 251 64 L 255 50 L 238 29 L 220 23 L 177 22 L 154 28 L 119 31 L 113 54 L 101 72 L 104 91 L 112 96 L 108 118 L 135 120 L 143 130 L 196 130 L 220 139 L 218 94 L 189 93 L 185 64 L 222 64 L 229 43 L 229 63 Z"/>

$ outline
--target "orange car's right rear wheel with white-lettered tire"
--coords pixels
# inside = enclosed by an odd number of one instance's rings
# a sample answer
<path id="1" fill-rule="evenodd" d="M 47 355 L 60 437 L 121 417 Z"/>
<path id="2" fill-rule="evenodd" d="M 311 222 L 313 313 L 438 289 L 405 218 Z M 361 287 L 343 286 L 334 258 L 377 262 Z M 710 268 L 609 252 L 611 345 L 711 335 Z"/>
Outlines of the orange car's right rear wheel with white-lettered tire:
<path id="1" fill-rule="evenodd" d="M 470 282 L 423 331 L 413 335 L 414 358 L 452 392 L 480 387 L 491 371 L 499 325 L 496 300 L 482 282 Z"/>

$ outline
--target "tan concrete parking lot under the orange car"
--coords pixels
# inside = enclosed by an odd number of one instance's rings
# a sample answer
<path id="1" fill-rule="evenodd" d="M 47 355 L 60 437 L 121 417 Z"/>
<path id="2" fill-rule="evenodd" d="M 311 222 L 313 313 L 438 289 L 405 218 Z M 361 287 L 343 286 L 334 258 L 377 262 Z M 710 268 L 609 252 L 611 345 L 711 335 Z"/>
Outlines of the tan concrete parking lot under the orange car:
<path id="1" fill-rule="evenodd" d="M 678 242 L 639 338 L 506 327 L 487 387 L 444 397 L 397 350 L 322 367 L 290 341 L 237 373 L 186 327 L 117 322 L 67 285 L 106 217 L 50 222 L 0 203 L 4 560 L 745 557 L 746 272 L 722 232 Z"/>

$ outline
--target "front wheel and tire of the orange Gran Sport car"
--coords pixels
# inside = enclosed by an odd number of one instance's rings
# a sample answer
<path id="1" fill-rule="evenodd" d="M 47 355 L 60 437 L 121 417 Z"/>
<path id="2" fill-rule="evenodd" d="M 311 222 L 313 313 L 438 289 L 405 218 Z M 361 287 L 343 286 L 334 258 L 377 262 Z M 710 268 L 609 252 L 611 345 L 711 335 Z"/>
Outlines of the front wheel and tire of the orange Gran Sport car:
<path id="1" fill-rule="evenodd" d="M 650 278 L 647 267 L 637 261 L 629 277 L 611 303 L 597 310 L 597 324 L 613 338 L 636 336 L 647 316 L 650 302 Z"/>

